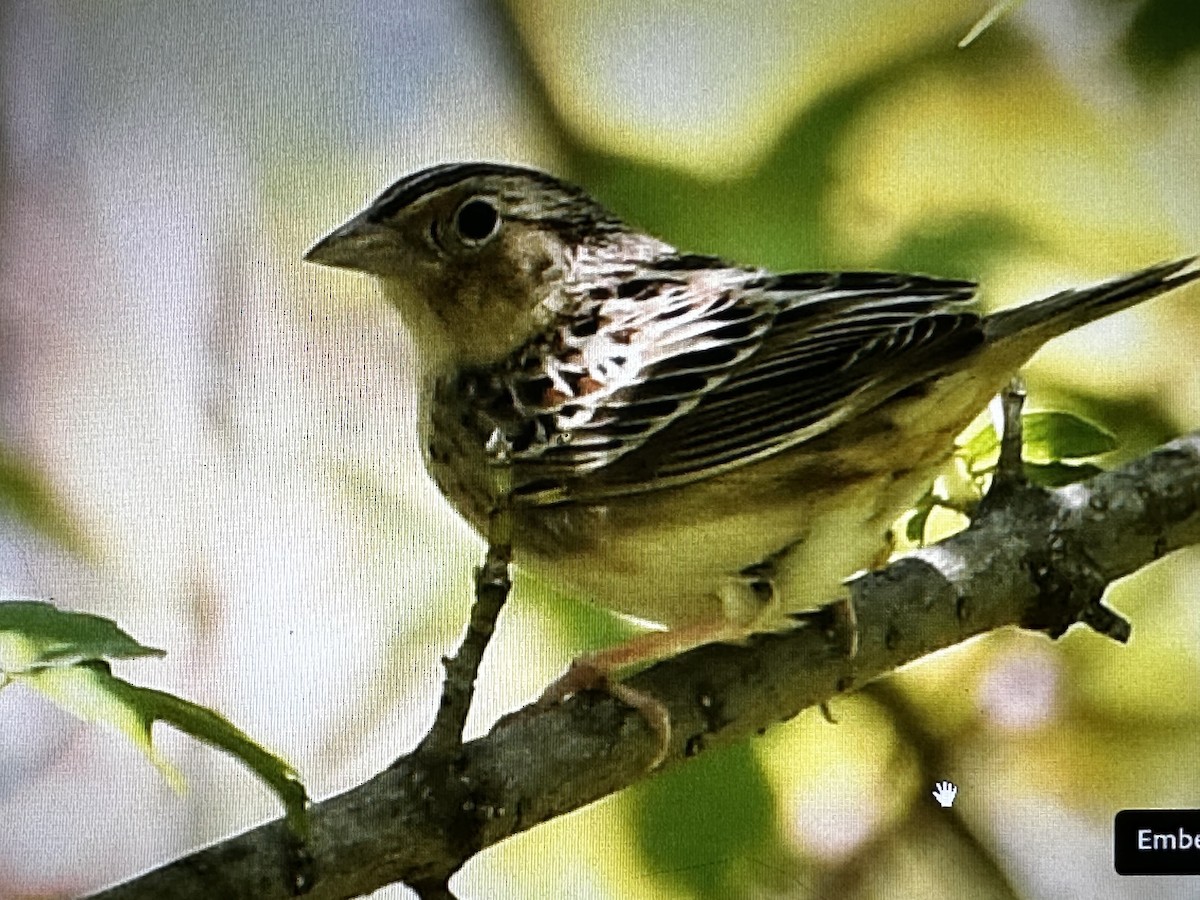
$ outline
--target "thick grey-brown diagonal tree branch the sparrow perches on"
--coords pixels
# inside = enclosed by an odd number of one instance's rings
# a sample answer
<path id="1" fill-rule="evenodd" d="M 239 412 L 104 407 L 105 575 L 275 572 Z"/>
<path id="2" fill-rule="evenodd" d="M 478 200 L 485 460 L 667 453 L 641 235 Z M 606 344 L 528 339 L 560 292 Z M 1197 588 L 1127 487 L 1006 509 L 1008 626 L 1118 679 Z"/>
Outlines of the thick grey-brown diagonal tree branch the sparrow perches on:
<path id="1" fill-rule="evenodd" d="M 992 629 L 1057 636 L 1082 622 L 1124 640 L 1128 624 L 1100 605 L 1104 588 L 1200 542 L 1200 432 L 1087 482 L 998 493 L 967 530 L 850 586 L 853 658 L 829 616 L 746 646 L 701 647 L 629 679 L 670 710 L 664 767 Z M 449 761 L 403 757 L 313 808 L 311 896 L 444 884 L 479 850 L 647 776 L 658 740 L 613 697 L 584 694 L 508 716 Z M 270 900 L 289 895 L 287 866 L 276 821 L 95 896 Z"/>

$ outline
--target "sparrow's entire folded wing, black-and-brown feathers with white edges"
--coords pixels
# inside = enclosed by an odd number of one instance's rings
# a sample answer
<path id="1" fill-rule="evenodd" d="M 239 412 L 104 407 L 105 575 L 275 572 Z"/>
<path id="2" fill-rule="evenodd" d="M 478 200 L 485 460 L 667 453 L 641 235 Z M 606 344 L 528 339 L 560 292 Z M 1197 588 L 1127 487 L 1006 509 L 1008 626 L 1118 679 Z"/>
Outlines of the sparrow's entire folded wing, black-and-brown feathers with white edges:
<path id="1" fill-rule="evenodd" d="M 810 439 L 983 340 L 970 282 L 686 258 L 581 306 L 485 406 L 526 502 L 653 491 Z M 900 379 L 895 389 L 902 389 Z M 487 391 L 475 386 L 476 397 Z M 871 400 L 874 397 L 874 400 Z"/>

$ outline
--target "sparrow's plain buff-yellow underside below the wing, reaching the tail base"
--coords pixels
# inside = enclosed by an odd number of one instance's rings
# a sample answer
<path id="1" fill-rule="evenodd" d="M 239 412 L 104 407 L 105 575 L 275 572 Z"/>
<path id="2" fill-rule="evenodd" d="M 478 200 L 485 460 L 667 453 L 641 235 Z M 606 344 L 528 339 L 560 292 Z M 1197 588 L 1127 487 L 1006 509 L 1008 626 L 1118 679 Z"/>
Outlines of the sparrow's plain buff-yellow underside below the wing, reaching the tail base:
<path id="1" fill-rule="evenodd" d="M 667 628 L 728 620 L 731 588 L 756 580 L 748 569 L 769 577 L 773 612 L 820 606 L 856 571 L 882 564 L 888 529 L 1006 380 L 1003 372 L 952 373 L 792 450 L 692 484 L 517 508 L 515 558 L 581 599 Z M 748 631 L 773 625 L 734 612 Z"/>

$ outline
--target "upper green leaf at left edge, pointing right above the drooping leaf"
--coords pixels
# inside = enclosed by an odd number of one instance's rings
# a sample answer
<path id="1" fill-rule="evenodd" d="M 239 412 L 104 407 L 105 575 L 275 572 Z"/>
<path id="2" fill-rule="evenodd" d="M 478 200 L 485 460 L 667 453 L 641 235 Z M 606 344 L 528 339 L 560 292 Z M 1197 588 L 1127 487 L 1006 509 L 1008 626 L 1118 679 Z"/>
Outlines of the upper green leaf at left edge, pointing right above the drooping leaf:
<path id="1" fill-rule="evenodd" d="M 0 601 L 0 672 L 162 655 L 102 616 L 66 612 L 41 600 Z"/>

